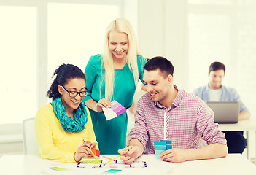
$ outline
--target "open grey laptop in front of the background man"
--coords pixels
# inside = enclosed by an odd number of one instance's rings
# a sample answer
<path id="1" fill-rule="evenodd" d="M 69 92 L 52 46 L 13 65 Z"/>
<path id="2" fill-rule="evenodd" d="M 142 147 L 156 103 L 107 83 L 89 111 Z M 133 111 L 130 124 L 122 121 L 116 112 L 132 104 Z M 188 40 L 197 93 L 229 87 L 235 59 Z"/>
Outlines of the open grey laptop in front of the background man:
<path id="1" fill-rule="evenodd" d="M 237 123 L 240 105 L 238 101 L 207 101 L 214 112 L 215 123 Z"/>

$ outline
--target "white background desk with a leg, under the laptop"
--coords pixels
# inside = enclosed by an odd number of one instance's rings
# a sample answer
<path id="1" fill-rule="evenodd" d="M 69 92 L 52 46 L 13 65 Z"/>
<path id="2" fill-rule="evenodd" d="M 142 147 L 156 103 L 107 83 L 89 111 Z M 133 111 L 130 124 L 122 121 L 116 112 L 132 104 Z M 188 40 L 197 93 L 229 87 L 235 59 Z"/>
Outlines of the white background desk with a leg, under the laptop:
<path id="1" fill-rule="evenodd" d="M 247 158 L 250 160 L 249 152 L 255 149 L 256 164 L 256 119 L 241 120 L 238 123 L 219 124 L 221 131 L 246 131 L 247 133 Z M 249 131 L 255 132 L 255 148 L 250 147 Z"/>

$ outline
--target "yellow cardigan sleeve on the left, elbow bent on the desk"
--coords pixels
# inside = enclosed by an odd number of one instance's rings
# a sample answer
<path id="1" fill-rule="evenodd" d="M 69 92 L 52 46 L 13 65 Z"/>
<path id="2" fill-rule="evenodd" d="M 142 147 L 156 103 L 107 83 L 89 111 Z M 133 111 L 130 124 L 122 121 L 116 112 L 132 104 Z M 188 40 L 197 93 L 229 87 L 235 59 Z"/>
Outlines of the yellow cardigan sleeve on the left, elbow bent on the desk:
<path id="1" fill-rule="evenodd" d="M 39 154 L 42 158 L 58 162 L 74 163 L 74 152 L 59 150 L 53 144 L 53 123 L 55 114 L 49 106 L 44 106 L 36 114 L 35 131 Z"/>

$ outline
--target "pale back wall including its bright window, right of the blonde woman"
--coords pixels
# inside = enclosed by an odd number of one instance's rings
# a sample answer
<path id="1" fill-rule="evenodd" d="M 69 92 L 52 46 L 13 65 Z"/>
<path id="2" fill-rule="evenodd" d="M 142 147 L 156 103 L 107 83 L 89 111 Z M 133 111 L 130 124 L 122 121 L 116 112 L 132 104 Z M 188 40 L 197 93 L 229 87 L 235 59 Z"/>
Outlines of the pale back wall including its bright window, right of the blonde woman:
<path id="1" fill-rule="evenodd" d="M 168 58 L 178 88 L 191 93 L 206 85 L 210 63 L 221 61 L 223 85 L 256 116 L 255 1 L 139 0 L 138 7 L 141 52 Z"/>

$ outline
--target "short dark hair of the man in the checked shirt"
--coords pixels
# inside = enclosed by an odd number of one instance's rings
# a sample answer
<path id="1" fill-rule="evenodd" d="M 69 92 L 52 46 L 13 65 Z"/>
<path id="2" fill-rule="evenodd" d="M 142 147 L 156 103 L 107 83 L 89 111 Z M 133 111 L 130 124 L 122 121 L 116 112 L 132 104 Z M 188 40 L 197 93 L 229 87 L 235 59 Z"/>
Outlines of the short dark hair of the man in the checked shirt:
<path id="1" fill-rule="evenodd" d="M 169 74 L 173 76 L 174 74 L 174 66 L 171 61 L 168 61 L 166 58 L 157 56 L 151 58 L 144 66 L 146 71 L 155 71 L 159 69 L 159 71 L 163 74 L 164 77 L 167 77 Z"/>

